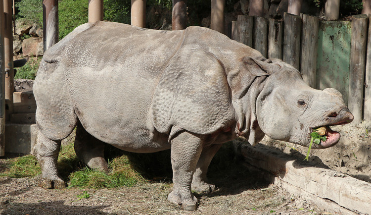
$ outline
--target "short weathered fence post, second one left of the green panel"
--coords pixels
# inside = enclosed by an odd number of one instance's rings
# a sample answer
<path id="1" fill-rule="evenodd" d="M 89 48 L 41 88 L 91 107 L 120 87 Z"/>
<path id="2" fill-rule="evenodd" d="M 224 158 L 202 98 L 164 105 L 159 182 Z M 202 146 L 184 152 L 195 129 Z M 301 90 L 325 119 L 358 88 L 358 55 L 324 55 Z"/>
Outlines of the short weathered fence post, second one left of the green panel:
<path id="1" fill-rule="evenodd" d="M 301 18 L 289 13 L 283 14 L 284 36 L 283 36 L 283 61 L 300 69 L 300 33 Z"/>

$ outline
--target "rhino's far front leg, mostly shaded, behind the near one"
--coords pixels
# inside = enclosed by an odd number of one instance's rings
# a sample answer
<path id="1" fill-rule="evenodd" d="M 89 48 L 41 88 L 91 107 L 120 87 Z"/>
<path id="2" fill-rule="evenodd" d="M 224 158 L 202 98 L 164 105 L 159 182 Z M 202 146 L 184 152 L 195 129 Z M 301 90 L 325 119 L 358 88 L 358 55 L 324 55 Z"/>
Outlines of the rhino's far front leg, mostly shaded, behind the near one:
<path id="1" fill-rule="evenodd" d="M 196 170 L 193 173 L 191 188 L 193 191 L 201 194 L 210 194 L 215 186 L 208 183 L 206 174 L 211 160 L 222 147 L 222 144 L 212 144 L 202 149 L 202 153 L 197 162 Z"/>

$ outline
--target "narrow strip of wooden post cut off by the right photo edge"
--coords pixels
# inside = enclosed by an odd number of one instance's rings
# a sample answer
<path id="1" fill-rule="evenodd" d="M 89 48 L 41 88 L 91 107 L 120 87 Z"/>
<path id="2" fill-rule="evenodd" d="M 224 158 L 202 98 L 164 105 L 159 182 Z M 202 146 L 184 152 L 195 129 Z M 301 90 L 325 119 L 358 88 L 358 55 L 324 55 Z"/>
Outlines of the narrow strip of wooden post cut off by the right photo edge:
<path id="1" fill-rule="evenodd" d="M 364 119 L 371 120 L 371 14 L 369 14 L 369 37 L 366 55 Z"/>

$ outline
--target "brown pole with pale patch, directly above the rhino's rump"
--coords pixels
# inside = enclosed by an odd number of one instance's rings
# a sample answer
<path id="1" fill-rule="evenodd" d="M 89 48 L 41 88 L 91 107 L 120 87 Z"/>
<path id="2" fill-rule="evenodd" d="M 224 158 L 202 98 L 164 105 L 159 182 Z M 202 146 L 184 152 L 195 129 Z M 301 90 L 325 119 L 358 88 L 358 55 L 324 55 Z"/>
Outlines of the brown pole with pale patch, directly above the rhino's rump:
<path id="1" fill-rule="evenodd" d="M 43 0 L 44 52 L 58 43 L 58 0 Z"/>

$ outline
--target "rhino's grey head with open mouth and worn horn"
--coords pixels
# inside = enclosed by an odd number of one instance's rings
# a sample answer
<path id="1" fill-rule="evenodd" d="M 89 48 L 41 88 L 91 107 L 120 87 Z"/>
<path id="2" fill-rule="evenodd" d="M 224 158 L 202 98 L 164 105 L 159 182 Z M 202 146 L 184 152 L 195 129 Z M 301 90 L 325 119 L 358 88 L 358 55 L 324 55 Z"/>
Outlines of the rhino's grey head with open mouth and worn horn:
<path id="1" fill-rule="evenodd" d="M 280 60 L 256 63 L 261 67 L 275 66 L 256 104 L 258 123 L 265 134 L 308 147 L 310 133 L 325 127 L 327 140 L 312 147 L 323 149 L 339 141 L 340 134 L 329 126 L 346 124 L 354 118 L 340 92 L 333 88 L 322 91 L 309 87 L 297 69 Z"/>

